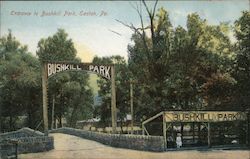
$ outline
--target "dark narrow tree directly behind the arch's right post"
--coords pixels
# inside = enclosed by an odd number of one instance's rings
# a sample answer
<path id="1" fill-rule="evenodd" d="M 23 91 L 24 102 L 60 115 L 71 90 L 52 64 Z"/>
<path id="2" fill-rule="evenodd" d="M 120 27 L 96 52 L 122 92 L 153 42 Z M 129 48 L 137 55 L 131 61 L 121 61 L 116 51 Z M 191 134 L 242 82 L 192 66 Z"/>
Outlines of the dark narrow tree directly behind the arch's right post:
<path id="1" fill-rule="evenodd" d="M 116 81 L 116 106 L 117 117 L 120 126 L 123 126 L 126 115 L 130 113 L 129 106 L 129 79 L 130 74 L 125 59 L 121 56 L 95 57 L 93 63 L 96 64 L 114 64 Z M 101 118 L 103 126 L 111 123 L 111 81 L 100 78 L 98 81 L 100 90 L 98 95 L 102 99 L 100 106 L 96 108 L 96 116 Z"/>

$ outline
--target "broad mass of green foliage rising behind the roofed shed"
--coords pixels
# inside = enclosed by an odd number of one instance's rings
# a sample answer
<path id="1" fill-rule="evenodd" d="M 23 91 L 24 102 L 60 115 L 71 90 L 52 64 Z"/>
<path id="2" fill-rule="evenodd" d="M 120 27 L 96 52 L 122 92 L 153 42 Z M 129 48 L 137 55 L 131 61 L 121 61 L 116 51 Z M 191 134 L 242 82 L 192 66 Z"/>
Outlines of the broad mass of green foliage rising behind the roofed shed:
<path id="1" fill-rule="evenodd" d="M 193 13 L 187 17 L 187 29 L 173 29 L 163 8 L 154 24 L 155 36 L 143 39 L 135 33 L 134 44 L 128 46 L 129 69 L 140 83 L 135 105 L 141 116 L 173 109 L 225 108 L 237 83 L 232 76 L 235 52 L 228 24 L 208 25 Z M 149 52 L 144 40 L 152 48 Z"/>

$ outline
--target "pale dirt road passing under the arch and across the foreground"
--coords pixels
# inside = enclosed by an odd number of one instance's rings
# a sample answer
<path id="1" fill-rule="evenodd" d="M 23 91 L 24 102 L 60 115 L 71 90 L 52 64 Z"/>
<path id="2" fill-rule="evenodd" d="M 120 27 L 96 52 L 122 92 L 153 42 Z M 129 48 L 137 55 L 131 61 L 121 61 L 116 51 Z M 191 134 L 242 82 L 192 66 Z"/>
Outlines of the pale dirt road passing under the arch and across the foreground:
<path id="1" fill-rule="evenodd" d="M 20 159 L 250 159 L 247 150 L 145 152 L 114 148 L 95 141 L 55 133 L 55 149 L 21 154 Z"/>

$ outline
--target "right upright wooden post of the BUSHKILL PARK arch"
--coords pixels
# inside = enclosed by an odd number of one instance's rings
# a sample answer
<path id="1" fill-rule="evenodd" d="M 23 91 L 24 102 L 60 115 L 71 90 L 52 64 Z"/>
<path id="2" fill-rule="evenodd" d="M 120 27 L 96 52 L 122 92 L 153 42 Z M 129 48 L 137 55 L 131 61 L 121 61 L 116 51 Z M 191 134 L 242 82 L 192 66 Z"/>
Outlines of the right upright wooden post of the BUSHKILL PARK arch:
<path id="1" fill-rule="evenodd" d="M 116 114 L 116 92 L 115 92 L 115 68 L 111 66 L 111 116 L 112 116 L 112 131 L 116 133 L 117 114 Z"/>

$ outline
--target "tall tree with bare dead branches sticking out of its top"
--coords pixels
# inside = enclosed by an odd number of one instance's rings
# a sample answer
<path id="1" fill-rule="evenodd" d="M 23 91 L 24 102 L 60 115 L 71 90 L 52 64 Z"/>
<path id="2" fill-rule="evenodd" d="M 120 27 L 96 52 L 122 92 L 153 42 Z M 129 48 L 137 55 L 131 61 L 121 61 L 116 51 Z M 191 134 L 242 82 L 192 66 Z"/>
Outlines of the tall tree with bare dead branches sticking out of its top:
<path id="1" fill-rule="evenodd" d="M 155 13 L 157 2 L 152 12 L 146 2 L 143 1 L 143 4 L 147 10 L 150 24 L 144 28 L 142 13 L 137 9 L 141 18 L 142 32 L 137 31 L 139 29 L 134 29 L 136 32 L 132 36 L 132 40 L 135 44 L 128 46 L 129 68 L 134 78 L 141 83 L 141 86 L 138 87 L 141 87 L 143 94 L 150 96 L 150 98 L 145 96 L 147 100 L 141 99 L 138 104 L 147 105 L 146 107 L 150 108 L 150 115 L 153 115 L 168 108 L 163 85 L 169 77 L 168 68 L 173 30 L 166 10 L 160 8 L 158 13 Z M 147 28 L 150 29 L 150 36 L 145 34 Z"/>

